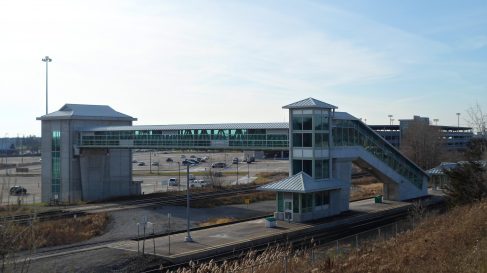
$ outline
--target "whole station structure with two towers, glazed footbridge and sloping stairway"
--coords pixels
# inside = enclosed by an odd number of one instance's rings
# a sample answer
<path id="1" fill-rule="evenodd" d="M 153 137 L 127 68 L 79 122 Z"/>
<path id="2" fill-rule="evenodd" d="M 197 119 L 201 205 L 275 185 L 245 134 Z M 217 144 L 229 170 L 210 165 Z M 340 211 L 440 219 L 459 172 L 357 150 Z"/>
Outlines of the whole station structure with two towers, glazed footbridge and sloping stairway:
<path id="1" fill-rule="evenodd" d="M 42 200 L 92 201 L 140 194 L 132 149 L 265 151 L 289 154 L 276 217 L 302 222 L 348 210 L 352 163 L 384 182 L 384 197 L 427 194 L 428 176 L 360 119 L 308 98 L 284 107 L 289 123 L 133 126 L 109 106 L 66 104 L 42 122 Z"/>

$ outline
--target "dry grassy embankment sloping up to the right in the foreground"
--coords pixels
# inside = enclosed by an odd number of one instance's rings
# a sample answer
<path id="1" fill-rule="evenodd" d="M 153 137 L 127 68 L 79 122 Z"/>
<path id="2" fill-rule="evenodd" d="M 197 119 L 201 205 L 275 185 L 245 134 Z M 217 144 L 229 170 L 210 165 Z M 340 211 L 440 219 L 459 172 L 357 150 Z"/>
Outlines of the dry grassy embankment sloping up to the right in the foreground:
<path id="1" fill-rule="evenodd" d="M 310 262 L 309 251 L 268 249 L 251 251 L 242 259 L 217 264 L 191 264 L 178 273 L 206 272 L 378 272 L 378 273 L 481 273 L 487 272 L 487 201 L 459 207 L 425 219 L 416 229 L 372 244 L 349 255 Z"/>

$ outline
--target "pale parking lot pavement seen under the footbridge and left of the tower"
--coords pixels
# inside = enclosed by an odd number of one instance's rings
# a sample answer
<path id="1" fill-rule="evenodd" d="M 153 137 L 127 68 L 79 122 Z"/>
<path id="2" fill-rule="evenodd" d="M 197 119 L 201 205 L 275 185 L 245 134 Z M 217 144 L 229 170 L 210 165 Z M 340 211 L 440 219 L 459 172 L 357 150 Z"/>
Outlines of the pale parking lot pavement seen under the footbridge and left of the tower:
<path id="1" fill-rule="evenodd" d="M 184 158 L 183 158 L 184 156 Z M 186 166 L 181 162 L 186 158 L 208 157 L 206 162 L 190 166 L 189 170 L 195 179 L 211 182 L 209 171 L 222 172 L 223 177 L 214 178 L 222 185 L 245 184 L 252 182 L 256 174 L 261 172 L 288 172 L 289 162 L 287 160 L 257 159 L 252 164 L 243 162 L 243 152 L 215 153 L 215 152 L 147 152 L 134 151 L 133 159 L 137 161 L 132 164 L 133 180 L 142 180 L 142 192 L 149 194 L 157 191 L 177 191 L 186 189 Z M 171 158 L 172 162 L 168 162 Z M 239 164 L 232 164 L 234 158 L 239 158 Z M 16 172 L 15 168 L 0 170 L 0 204 L 16 204 L 19 200 L 22 203 L 40 202 L 41 195 L 41 164 L 40 157 L 9 157 L 8 164 L 21 164 L 28 169 L 28 172 Z M 1 158 L 5 163 L 5 158 Z M 144 162 L 144 166 L 139 166 Z M 154 162 L 157 162 L 153 165 Z M 180 170 L 178 170 L 180 162 Z M 213 163 L 226 163 L 225 168 L 211 168 Z M 237 174 L 238 167 L 238 174 Z M 181 179 L 179 179 L 179 174 Z M 176 178 L 182 183 L 171 186 L 167 184 L 169 178 Z M 238 180 L 237 180 L 238 178 Z M 238 182 L 237 182 L 238 181 Z M 27 190 L 25 196 L 14 196 L 9 194 L 12 186 L 22 186 Z"/>

